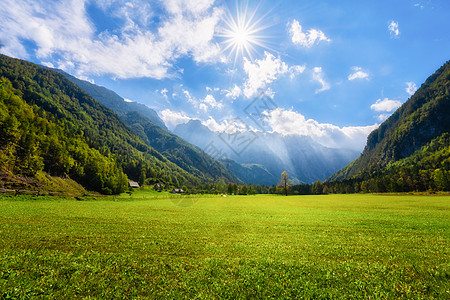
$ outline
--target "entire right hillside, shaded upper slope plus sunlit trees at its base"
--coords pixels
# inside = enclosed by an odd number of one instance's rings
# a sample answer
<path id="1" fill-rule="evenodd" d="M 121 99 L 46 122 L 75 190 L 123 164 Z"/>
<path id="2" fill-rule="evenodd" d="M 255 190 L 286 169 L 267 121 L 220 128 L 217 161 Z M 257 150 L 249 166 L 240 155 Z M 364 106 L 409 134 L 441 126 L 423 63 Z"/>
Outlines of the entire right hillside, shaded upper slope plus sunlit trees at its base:
<path id="1" fill-rule="evenodd" d="M 361 156 L 328 181 L 373 179 L 382 185 L 381 190 L 389 191 L 443 189 L 446 184 L 436 184 L 434 179 L 450 170 L 449 112 L 450 62 L 447 62 L 369 135 Z M 390 181 L 396 182 L 388 184 L 389 176 Z"/>

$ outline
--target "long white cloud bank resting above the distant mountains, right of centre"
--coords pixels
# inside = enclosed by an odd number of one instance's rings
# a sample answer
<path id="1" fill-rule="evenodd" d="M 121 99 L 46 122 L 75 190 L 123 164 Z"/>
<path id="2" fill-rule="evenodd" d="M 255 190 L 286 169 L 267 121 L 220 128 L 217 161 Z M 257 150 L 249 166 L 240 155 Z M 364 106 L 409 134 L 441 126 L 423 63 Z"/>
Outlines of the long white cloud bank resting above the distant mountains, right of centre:
<path id="1" fill-rule="evenodd" d="M 361 151 L 370 132 L 377 124 L 361 127 L 338 127 L 306 119 L 302 114 L 277 108 L 266 113 L 266 121 L 274 132 L 282 135 L 309 136 L 316 142 L 332 148 Z"/>

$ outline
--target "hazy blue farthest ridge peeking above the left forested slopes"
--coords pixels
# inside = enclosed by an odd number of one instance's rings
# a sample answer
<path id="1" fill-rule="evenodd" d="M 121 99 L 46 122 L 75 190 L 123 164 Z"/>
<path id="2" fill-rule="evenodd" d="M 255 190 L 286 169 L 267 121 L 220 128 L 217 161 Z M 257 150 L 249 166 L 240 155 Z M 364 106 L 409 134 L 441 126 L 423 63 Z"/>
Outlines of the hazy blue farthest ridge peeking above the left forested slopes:
<path id="1" fill-rule="evenodd" d="M 125 99 L 117 95 L 115 92 L 88 81 L 78 79 L 62 70 L 53 69 L 64 75 L 67 79 L 78 85 L 82 90 L 91 95 L 94 99 L 114 111 L 119 116 L 123 116 L 129 112 L 139 112 L 142 116 L 148 118 L 156 125 L 167 129 L 166 124 L 158 116 L 158 113 L 147 105 L 138 102 L 127 102 Z"/>

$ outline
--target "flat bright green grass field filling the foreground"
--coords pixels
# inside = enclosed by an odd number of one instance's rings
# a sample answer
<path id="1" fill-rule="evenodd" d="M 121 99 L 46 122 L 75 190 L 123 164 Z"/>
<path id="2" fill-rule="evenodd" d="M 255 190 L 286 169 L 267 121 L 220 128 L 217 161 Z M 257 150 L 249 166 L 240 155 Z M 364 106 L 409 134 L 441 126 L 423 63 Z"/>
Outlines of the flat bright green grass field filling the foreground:
<path id="1" fill-rule="evenodd" d="M 0 197 L 0 298 L 450 299 L 450 197 Z"/>

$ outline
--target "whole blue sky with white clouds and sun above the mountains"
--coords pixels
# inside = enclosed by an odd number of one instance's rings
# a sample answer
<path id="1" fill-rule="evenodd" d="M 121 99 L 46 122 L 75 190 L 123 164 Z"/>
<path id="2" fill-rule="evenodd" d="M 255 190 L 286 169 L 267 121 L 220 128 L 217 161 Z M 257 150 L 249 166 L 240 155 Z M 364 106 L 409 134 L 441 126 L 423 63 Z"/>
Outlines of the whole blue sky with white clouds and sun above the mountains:
<path id="1" fill-rule="evenodd" d="M 169 128 L 255 128 L 244 110 L 263 93 L 278 107 L 267 130 L 356 149 L 450 59 L 449 28 L 448 0 L 0 4 L 1 53 L 144 103 Z"/>

